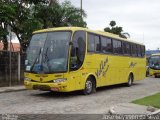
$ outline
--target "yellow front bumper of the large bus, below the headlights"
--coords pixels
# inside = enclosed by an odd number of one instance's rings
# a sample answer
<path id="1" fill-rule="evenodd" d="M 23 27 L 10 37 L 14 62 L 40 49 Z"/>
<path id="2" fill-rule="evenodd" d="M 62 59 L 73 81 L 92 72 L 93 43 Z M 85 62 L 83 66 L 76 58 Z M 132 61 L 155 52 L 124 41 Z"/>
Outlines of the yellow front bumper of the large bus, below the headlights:
<path id="1" fill-rule="evenodd" d="M 24 81 L 24 85 L 29 90 L 42 90 L 42 91 L 57 91 L 57 92 L 69 92 L 67 84 L 64 83 L 40 83 Z"/>

